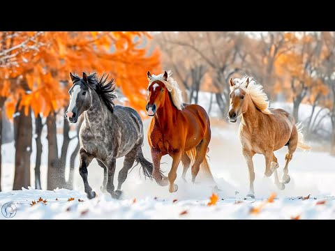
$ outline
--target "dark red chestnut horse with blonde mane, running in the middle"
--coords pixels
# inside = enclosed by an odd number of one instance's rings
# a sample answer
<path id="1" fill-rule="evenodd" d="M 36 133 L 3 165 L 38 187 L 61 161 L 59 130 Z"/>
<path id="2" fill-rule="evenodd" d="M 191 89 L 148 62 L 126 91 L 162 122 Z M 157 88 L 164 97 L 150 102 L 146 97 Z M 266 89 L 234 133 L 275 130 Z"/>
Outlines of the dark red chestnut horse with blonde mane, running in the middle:
<path id="1" fill-rule="evenodd" d="M 177 168 L 181 161 L 184 166 L 182 178 L 192 164 L 192 182 L 194 183 L 200 166 L 214 181 L 206 159 L 208 144 L 211 140 L 211 128 L 207 112 L 200 105 L 183 104 L 181 90 L 171 77 L 172 72 L 155 76 L 148 71 L 147 114 L 154 116 L 148 130 L 148 141 L 154 164 L 152 176 L 159 185 L 168 185 L 169 191 L 176 192 L 174 184 Z M 169 154 L 173 161 L 167 178 L 160 173 L 163 155 Z"/>

